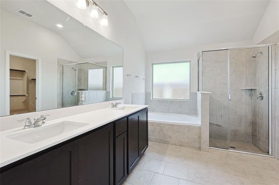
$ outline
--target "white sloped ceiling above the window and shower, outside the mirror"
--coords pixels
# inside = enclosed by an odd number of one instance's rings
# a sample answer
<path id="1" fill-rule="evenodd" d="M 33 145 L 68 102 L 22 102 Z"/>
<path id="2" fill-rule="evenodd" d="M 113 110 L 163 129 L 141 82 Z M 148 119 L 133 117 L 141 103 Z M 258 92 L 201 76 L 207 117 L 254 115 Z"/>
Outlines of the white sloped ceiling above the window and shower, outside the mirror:
<path id="1" fill-rule="evenodd" d="M 269 1 L 125 0 L 146 51 L 251 40 Z"/>

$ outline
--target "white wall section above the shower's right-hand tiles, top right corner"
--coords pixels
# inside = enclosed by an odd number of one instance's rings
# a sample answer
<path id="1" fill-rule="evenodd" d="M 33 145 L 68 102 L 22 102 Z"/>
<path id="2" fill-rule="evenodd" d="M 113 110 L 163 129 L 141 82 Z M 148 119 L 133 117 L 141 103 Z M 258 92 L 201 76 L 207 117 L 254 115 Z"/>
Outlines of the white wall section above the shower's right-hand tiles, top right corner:
<path id="1" fill-rule="evenodd" d="M 279 30 L 279 1 L 271 0 L 253 37 L 253 45 Z"/>

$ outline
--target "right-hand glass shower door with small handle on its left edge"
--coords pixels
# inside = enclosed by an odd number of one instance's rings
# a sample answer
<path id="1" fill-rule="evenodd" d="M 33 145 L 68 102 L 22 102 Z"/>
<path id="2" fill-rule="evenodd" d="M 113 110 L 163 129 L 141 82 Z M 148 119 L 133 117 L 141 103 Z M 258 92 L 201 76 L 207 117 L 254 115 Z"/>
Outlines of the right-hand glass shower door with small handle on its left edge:
<path id="1" fill-rule="evenodd" d="M 268 47 L 229 49 L 229 147 L 268 154 Z"/>

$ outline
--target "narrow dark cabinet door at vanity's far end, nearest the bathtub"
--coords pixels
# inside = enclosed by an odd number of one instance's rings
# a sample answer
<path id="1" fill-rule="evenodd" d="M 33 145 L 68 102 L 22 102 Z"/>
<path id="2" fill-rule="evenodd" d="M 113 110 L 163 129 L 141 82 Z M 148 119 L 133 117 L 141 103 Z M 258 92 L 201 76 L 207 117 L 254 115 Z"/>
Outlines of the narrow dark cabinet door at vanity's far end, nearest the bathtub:
<path id="1" fill-rule="evenodd" d="M 140 112 L 140 151 L 141 157 L 148 147 L 148 109 Z"/>

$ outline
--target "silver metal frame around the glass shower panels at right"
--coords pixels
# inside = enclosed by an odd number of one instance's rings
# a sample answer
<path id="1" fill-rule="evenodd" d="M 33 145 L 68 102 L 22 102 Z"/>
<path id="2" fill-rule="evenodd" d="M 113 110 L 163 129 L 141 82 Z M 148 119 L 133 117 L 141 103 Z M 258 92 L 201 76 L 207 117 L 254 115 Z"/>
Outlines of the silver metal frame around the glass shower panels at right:
<path id="1" fill-rule="evenodd" d="M 256 48 L 256 47 L 268 47 L 268 136 L 269 136 L 269 151 L 268 154 L 261 154 L 261 153 L 256 153 L 252 151 L 247 151 L 247 150 L 236 150 L 236 149 L 231 149 L 230 148 L 230 103 L 229 103 L 229 95 L 230 94 L 230 79 L 229 79 L 229 51 L 232 49 L 245 49 L 245 48 Z M 212 50 L 202 50 L 200 55 L 198 56 L 198 91 L 203 91 L 203 59 L 201 60 L 201 70 L 199 66 L 199 59 L 201 58 L 203 52 L 206 51 L 222 51 L 222 50 L 228 50 L 228 148 L 229 149 L 222 149 L 222 148 L 216 148 L 216 147 L 210 147 L 210 148 L 215 148 L 215 149 L 220 149 L 220 150 L 230 150 L 234 152 L 239 152 L 239 153 L 247 153 L 247 154 L 255 154 L 255 155 L 261 155 L 261 156 L 269 156 L 269 157 L 274 157 L 275 155 L 275 82 L 276 82 L 276 74 L 274 70 L 276 69 L 276 63 L 275 63 L 275 52 L 276 52 L 276 43 L 271 43 L 271 44 L 260 44 L 260 45 L 253 45 L 253 46 L 246 46 L 246 47 L 227 47 L 227 48 L 220 48 L 220 49 L 212 49 Z M 201 72 L 201 74 L 199 74 Z M 201 87 L 199 87 L 199 80 L 201 81 Z M 272 109 L 274 107 L 274 109 Z M 273 125 L 272 125 L 273 121 Z"/>

